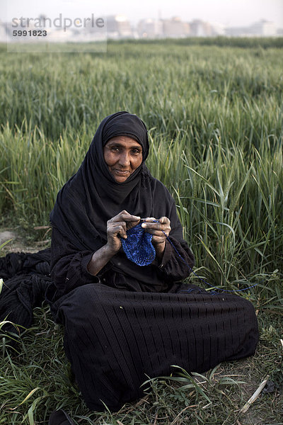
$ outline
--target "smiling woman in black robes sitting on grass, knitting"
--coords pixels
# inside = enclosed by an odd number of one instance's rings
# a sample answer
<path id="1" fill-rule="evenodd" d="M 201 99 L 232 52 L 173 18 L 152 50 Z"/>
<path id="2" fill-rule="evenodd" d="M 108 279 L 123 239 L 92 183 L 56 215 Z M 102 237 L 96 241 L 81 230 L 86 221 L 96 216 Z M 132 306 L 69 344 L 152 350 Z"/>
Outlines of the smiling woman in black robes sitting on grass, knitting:
<path id="1" fill-rule="evenodd" d="M 50 215 L 48 297 L 93 410 L 141 397 L 146 377 L 170 375 L 172 365 L 202 372 L 252 355 L 258 342 L 250 302 L 183 283 L 194 257 L 148 154 L 144 123 L 109 115 Z"/>

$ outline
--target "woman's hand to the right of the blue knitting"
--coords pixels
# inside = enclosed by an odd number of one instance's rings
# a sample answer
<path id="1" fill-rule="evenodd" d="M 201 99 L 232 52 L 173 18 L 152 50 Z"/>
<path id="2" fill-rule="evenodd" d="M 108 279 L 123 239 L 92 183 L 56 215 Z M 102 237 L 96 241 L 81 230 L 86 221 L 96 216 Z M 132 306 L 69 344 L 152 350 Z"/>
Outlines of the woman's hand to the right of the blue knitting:
<path id="1" fill-rule="evenodd" d="M 168 217 L 160 217 L 158 222 L 154 222 L 156 218 L 148 217 L 146 221 L 142 223 L 146 232 L 152 234 L 151 242 L 154 245 L 158 259 L 162 258 L 163 251 L 166 244 L 166 236 L 171 232 L 170 220 Z"/>

